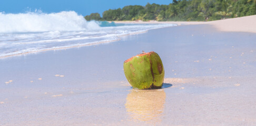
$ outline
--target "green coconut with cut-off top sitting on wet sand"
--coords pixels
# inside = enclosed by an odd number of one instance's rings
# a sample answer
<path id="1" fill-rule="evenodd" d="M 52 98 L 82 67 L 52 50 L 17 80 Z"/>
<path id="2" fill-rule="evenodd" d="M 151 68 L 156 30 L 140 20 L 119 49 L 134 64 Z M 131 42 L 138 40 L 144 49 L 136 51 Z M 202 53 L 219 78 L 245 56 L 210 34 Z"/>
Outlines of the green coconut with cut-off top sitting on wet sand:
<path id="1" fill-rule="evenodd" d="M 163 86 L 164 67 L 154 51 L 124 61 L 124 75 L 134 89 L 157 89 Z"/>

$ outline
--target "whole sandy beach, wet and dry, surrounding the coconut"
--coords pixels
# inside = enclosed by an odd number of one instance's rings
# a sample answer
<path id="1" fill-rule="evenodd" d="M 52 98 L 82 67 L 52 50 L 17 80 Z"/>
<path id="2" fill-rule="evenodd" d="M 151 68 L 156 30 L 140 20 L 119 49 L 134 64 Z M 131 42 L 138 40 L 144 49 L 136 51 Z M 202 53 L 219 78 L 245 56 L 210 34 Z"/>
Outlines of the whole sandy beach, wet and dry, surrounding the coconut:
<path id="1" fill-rule="evenodd" d="M 0 125 L 255 125 L 255 17 L 172 22 L 111 43 L 2 58 Z M 162 89 L 126 80 L 123 62 L 142 50 L 161 57 Z"/>

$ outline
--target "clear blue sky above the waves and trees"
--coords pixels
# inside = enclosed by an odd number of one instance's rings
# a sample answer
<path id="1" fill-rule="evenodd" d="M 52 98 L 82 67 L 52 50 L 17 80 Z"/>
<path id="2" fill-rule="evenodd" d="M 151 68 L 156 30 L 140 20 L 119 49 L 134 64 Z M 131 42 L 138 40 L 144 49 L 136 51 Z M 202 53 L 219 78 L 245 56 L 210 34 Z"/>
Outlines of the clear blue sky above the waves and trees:
<path id="1" fill-rule="evenodd" d="M 168 5 L 172 0 L 1 0 L 0 12 L 26 13 L 35 9 L 43 13 L 57 13 L 74 10 L 79 15 L 102 13 L 104 10 L 122 8 L 127 5 L 142 5 L 147 3 Z"/>

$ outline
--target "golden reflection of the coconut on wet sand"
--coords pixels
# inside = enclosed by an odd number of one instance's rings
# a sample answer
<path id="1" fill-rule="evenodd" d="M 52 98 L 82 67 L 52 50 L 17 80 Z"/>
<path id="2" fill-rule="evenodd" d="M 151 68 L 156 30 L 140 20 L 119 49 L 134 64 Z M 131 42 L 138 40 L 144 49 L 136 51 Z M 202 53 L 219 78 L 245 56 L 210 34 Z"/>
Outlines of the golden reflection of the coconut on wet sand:
<path id="1" fill-rule="evenodd" d="M 132 90 L 126 98 L 125 108 L 133 121 L 161 122 L 165 92 L 157 90 Z"/>

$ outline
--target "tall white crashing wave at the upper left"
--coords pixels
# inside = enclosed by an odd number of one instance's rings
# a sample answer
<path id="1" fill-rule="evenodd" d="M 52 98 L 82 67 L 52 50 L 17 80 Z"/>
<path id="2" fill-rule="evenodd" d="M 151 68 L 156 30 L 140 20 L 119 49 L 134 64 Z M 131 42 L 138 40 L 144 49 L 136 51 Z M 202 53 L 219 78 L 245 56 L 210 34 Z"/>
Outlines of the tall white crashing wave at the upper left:
<path id="1" fill-rule="evenodd" d="M 0 13 L 0 33 L 41 32 L 41 31 L 74 31 L 95 29 L 100 26 L 95 22 L 86 22 L 76 12 L 60 13 Z"/>

